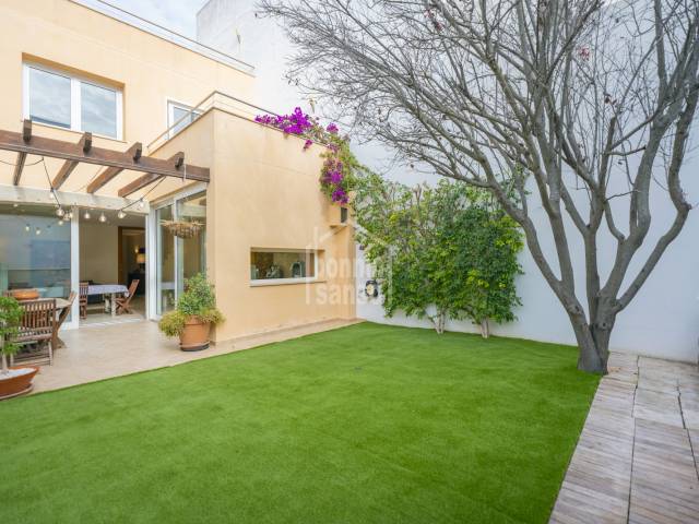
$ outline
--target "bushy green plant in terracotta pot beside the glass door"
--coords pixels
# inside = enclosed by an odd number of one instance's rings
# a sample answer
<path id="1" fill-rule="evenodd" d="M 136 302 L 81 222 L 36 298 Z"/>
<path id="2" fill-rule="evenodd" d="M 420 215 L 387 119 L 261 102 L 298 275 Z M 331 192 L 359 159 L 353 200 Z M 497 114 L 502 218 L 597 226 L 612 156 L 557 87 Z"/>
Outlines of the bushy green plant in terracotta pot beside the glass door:
<path id="1" fill-rule="evenodd" d="M 199 352 L 209 347 L 211 325 L 223 320 L 213 286 L 199 273 L 186 281 L 177 307 L 165 313 L 158 325 L 167 336 L 179 336 L 182 352 Z"/>

